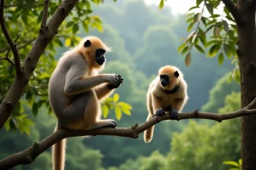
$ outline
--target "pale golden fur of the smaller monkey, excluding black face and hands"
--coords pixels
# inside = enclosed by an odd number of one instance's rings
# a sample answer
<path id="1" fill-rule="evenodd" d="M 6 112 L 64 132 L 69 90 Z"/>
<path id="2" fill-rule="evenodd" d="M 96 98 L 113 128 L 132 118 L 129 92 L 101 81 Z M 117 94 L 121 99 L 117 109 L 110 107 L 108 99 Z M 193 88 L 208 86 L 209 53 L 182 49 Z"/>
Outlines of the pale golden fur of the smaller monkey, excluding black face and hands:
<path id="1" fill-rule="evenodd" d="M 174 72 L 178 71 L 179 77 L 174 77 Z M 166 87 L 162 87 L 160 84 L 160 75 L 168 75 L 170 77 L 170 84 Z M 174 94 L 168 94 L 164 90 L 172 90 L 176 85 L 179 86 L 177 92 Z M 187 94 L 187 83 L 183 78 L 183 73 L 173 65 L 166 65 L 160 68 L 158 76 L 149 84 L 147 94 L 148 105 L 148 118 L 147 121 L 154 116 L 155 111 L 161 108 L 167 108 L 170 105 L 175 107 L 178 112 L 182 111 L 183 106 L 189 99 Z M 154 126 L 149 127 L 144 132 L 144 141 L 150 142 L 153 138 Z"/>

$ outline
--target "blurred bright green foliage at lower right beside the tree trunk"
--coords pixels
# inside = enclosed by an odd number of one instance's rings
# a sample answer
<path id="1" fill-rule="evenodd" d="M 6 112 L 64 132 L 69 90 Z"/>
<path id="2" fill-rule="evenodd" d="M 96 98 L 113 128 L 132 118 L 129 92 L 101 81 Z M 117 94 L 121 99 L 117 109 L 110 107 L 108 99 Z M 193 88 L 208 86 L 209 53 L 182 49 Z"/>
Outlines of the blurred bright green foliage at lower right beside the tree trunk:
<path id="1" fill-rule="evenodd" d="M 232 93 L 226 97 L 225 106 L 219 112 L 236 111 L 240 105 L 240 94 Z M 175 133 L 172 137 L 166 169 L 225 169 L 223 160 L 240 157 L 241 135 L 237 132 L 241 132 L 237 118 L 212 126 L 189 121 L 183 133 Z"/>

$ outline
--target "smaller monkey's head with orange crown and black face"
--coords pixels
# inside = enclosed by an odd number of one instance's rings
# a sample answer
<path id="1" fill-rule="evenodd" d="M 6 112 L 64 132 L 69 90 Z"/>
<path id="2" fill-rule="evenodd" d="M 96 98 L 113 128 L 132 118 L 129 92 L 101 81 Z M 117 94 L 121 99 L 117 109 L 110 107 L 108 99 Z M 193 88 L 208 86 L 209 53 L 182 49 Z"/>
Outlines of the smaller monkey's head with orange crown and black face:
<path id="1" fill-rule="evenodd" d="M 160 69 L 159 74 L 162 88 L 172 90 L 177 85 L 179 73 L 175 67 L 166 65 Z"/>

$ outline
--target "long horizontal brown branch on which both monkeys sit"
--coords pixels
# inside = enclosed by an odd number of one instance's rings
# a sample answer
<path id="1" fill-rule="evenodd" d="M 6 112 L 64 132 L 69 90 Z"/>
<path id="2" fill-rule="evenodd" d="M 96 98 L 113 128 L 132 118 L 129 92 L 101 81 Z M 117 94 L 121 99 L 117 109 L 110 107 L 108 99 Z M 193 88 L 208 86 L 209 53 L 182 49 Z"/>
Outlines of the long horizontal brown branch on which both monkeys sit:
<path id="1" fill-rule="evenodd" d="M 245 108 L 226 113 L 226 114 L 217 114 L 217 113 L 207 113 L 207 112 L 198 112 L 192 111 L 189 113 L 180 113 L 178 114 L 178 120 L 184 119 L 209 119 L 217 122 L 222 122 L 224 120 L 233 119 L 239 116 L 248 116 L 256 114 L 256 99 L 253 99 L 251 104 L 247 105 Z M 170 116 L 166 114 L 165 116 L 154 116 L 149 121 L 143 122 L 140 125 L 137 123 L 131 127 L 115 127 L 115 128 L 101 128 L 101 129 L 92 129 L 92 130 L 80 130 L 74 131 L 69 129 L 58 129 L 54 133 L 50 134 L 49 137 L 43 139 L 39 143 L 35 143 L 26 150 L 22 150 L 12 156 L 6 157 L 3 160 L 0 160 L 0 169 L 8 169 L 15 167 L 20 164 L 29 164 L 34 161 L 37 156 L 42 154 L 45 150 L 49 149 L 50 146 L 68 137 L 75 136 L 96 136 L 96 135 L 109 135 L 109 136 L 120 136 L 126 138 L 137 139 L 138 134 L 143 133 L 148 127 L 152 127 L 158 122 L 170 120 Z"/>

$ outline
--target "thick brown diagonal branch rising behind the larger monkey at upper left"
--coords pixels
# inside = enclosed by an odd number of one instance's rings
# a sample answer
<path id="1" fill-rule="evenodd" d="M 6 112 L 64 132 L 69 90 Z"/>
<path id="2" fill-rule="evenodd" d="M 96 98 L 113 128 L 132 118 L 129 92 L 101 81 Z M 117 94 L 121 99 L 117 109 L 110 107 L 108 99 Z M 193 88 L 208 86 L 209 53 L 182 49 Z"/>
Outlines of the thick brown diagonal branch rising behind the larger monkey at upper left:
<path id="1" fill-rule="evenodd" d="M 29 78 L 37 66 L 38 59 L 40 59 L 41 54 L 44 53 L 44 49 L 53 37 L 55 37 L 61 23 L 66 19 L 67 14 L 70 13 L 78 1 L 79 0 L 63 0 L 60 6 L 56 9 L 55 14 L 53 14 L 49 20 L 47 28 L 41 28 L 39 30 L 38 38 L 22 63 L 24 74 L 22 77 L 15 77 L 15 81 L 11 88 L 9 88 L 9 92 L 0 104 L 0 129 L 8 120 L 10 113 L 15 109 L 15 105 L 19 102 Z M 3 0 L 0 0 L 0 2 L 3 3 Z"/>

